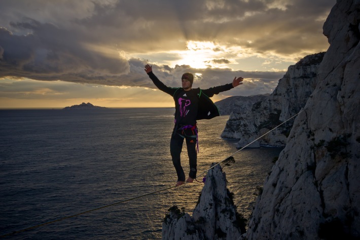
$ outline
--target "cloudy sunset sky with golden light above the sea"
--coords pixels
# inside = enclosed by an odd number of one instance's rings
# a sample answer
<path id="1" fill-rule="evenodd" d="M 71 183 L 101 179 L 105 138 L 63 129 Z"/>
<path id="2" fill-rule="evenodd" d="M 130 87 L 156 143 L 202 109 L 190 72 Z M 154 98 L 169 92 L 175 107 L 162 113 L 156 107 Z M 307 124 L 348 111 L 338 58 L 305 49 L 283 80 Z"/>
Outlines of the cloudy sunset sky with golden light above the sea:
<path id="1" fill-rule="evenodd" d="M 271 93 L 289 65 L 326 51 L 336 0 L 0 0 L 0 108 L 171 107 L 185 72 L 215 95 Z"/>

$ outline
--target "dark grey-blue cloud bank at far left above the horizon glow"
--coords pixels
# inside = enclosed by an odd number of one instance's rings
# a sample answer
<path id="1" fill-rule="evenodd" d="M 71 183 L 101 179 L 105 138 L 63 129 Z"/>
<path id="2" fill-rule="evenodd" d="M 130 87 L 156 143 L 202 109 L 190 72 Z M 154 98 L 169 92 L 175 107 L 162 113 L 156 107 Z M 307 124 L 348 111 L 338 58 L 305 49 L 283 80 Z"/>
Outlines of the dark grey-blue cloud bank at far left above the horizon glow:
<path id="1" fill-rule="evenodd" d="M 85 48 L 80 41 L 82 36 L 76 32 L 33 19 L 10 25 L 30 33 L 17 36 L 0 28 L 0 46 L 4 49 L 0 76 L 100 83 L 106 76 L 119 76 L 129 71 L 127 60 Z"/>

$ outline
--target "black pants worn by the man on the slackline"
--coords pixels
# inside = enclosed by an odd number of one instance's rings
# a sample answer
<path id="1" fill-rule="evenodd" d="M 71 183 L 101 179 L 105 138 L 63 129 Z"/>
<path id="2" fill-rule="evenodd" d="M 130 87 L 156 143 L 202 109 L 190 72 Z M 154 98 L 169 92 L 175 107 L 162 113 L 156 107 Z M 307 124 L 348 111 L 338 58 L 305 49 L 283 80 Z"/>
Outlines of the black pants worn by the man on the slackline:
<path id="1" fill-rule="evenodd" d="M 196 135 L 193 134 L 191 129 L 186 129 L 183 131 L 183 130 L 178 130 L 176 128 L 177 126 L 175 126 L 171 135 L 170 154 L 172 158 L 172 163 L 174 164 L 176 170 L 177 181 L 185 181 L 185 174 L 180 160 L 184 139 L 186 141 L 186 146 L 188 149 L 188 156 L 189 156 L 189 165 L 190 165 L 189 177 L 195 179 L 197 172 Z"/>

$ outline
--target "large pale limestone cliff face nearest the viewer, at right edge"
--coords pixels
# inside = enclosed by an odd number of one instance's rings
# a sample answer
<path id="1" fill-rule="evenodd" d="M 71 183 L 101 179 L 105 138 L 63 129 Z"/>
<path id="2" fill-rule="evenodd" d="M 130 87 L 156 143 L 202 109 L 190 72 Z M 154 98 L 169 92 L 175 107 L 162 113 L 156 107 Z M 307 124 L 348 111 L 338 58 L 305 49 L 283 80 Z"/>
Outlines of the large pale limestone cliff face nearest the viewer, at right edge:
<path id="1" fill-rule="evenodd" d="M 264 183 L 246 239 L 360 239 L 359 22 L 360 1 L 343 0 L 323 25 L 330 47 L 318 84 Z"/>

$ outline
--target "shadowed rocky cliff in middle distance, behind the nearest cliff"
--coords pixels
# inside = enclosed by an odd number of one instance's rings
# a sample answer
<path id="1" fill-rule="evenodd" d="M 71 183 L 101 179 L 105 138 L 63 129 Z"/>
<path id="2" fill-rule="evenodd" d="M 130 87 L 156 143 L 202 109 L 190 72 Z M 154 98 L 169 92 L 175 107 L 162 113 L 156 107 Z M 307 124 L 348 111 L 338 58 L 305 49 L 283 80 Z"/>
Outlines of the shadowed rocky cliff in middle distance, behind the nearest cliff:
<path id="1" fill-rule="evenodd" d="M 297 114 L 317 85 L 316 76 L 323 55 L 324 53 L 309 55 L 289 66 L 272 94 L 253 98 L 255 101 L 245 101 L 244 105 L 240 102 L 237 110 L 231 113 L 221 136 L 239 139 L 237 147 L 242 148 Z M 251 105 L 248 106 L 249 104 Z M 293 123 L 294 120 L 287 122 L 248 147 L 284 147 Z"/>

